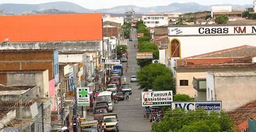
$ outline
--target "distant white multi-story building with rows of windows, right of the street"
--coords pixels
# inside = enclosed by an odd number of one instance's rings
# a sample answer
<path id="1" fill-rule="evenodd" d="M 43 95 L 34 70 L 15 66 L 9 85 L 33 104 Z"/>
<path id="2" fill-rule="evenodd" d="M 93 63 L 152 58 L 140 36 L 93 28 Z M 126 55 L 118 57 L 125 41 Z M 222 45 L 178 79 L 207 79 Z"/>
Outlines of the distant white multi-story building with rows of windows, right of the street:
<path id="1" fill-rule="evenodd" d="M 154 14 L 154 15 L 146 15 L 142 16 L 143 22 L 147 27 L 155 27 L 155 26 L 164 26 L 168 25 L 168 15 L 160 15 L 160 14 Z"/>

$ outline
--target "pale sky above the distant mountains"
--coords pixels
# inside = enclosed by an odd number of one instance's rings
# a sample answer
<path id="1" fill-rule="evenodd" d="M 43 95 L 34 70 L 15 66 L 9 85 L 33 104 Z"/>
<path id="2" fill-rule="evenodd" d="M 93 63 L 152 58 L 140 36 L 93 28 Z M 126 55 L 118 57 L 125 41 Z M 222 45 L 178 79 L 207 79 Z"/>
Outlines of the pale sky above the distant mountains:
<path id="1" fill-rule="evenodd" d="M 118 5 L 137 5 L 141 7 L 168 5 L 171 3 L 196 2 L 202 5 L 212 4 L 252 4 L 253 0 L 0 0 L 3 3 L 40 4 L 54 1 L 67 1 L 88 9 L 111 8 Z"/>

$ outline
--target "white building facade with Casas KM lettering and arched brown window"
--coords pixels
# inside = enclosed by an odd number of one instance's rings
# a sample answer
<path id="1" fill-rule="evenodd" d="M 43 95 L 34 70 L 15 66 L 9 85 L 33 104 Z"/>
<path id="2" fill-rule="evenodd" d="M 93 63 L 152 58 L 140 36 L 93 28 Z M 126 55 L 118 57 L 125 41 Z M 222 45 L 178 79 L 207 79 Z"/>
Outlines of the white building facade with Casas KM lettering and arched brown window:
<path id="1" fill-rule="evenodd" d="M 169 26 L 170 58 L 185 58 L 227 48 L 256 46 L 256 24 Z"/>

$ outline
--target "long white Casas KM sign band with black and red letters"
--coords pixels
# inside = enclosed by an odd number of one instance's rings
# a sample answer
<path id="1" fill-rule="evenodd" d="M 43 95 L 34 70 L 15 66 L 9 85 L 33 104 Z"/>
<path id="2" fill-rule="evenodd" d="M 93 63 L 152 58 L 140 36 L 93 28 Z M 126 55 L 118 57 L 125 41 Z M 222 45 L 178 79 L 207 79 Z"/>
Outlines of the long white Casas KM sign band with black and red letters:
<path id="1" fill-rule="evenodd" d="M 255 35 L 256 26 L 182 26 L 169 27 L 168 35 Z"/>

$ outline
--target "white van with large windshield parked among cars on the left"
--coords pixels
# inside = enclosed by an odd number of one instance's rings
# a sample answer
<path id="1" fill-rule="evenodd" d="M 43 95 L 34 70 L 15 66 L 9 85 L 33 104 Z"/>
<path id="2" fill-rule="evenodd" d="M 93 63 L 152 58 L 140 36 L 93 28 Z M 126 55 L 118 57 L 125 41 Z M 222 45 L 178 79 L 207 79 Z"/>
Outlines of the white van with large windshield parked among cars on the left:
<path id="1" fill-rule="evenodd" d="M 108 102 L 108 111 L 113 111 L 113 95 L 110 91 L 100 92 L 97 98 L 97 101 L 106 101 Z"/>

